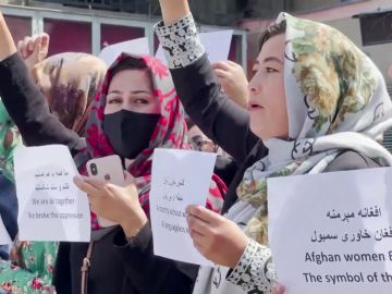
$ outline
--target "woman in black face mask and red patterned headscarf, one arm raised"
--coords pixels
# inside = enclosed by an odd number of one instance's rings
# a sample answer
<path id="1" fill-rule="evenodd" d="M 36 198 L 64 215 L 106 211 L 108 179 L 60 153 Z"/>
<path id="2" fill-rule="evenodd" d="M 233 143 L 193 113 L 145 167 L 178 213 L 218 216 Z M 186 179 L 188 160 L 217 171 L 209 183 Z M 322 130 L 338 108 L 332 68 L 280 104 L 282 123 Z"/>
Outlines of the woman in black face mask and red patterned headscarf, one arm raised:
<path id="1" fill-rule="evenodd" d="M 61 244 L 54 277 L 57 292 L 189 292 L 194 268 L 154 256 L 145 212 L 154 148 L 187 148 L 183 110 L 167 68 L 148 57 L 122 56 L 108 71 L 102 91 L 94 101 L 85 148 L 75 133 L 49 113 L 14 53 L 12 38 L 1 19 L 0 39 L 4 40 L 0 49 L 0 84 L 7 85 L 0 88 L 0 95 L 26 143 L 68 145 L 81 173 L 85 173 L 89 158 L 118 154 L 134 177 L 135 184 L 126 188 L 96 180 L 76 181 L 88 192 L 91 210 L 120 226 L 101 229 L 93 218 L 97 229 L 93 232 L 94 242 Z M 34 111 L 21 111 L 29 108 Z M 27 132 L 34 126 L 38 126 L 39 135 Z M 131 177 L 128 173 L 126 176 Z M 219 210 L 221 192 L 215 182 L 210 194 L 208 206 Z"/>

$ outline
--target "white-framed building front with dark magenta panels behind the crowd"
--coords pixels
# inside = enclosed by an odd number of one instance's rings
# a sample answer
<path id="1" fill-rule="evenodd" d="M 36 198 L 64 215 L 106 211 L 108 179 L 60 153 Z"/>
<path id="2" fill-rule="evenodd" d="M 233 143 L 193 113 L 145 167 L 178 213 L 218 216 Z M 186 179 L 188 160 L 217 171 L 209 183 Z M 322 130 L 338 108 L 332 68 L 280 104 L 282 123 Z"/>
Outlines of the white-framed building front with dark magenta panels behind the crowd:
<path id="1" fill-rule="evenodd" d="M 160 20 L 158 0 L 0 0 L 15 40 L 46 32 L 49 56 L 65 51 L 98 54 L 108 45 L 147 37 L 150 53 L 158 49 L 154 24 Z M 201 32 L 221 29 L 201 25 Z M 247 32 L 234 28 L 229 59 L 246 66 Z"/>

